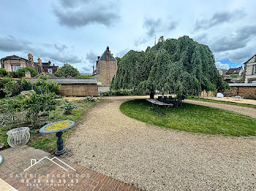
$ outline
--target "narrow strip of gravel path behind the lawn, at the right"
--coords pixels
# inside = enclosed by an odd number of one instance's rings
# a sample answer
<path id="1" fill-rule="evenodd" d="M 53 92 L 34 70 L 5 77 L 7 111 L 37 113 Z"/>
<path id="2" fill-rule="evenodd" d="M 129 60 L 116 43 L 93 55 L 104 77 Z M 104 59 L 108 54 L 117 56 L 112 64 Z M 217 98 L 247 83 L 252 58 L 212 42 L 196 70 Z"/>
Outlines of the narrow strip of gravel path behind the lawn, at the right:
<path id="1" fill-rule="evenodd" d="M 206 102 L 206 101 L 195 101 L 195 100 L 185 100 L 188 104 L 197 104 L 200 106 L 211 106 L 219 109 L 227 109 L 231 112 L 238 112 L 240 114 L 245 114 L 250 117 L 256 118 L 256 109 L 252 107 L 246 106 L 236 106 L 236 105 L 229 105 L 229 104 L 217 104 L 213 102 Z"/>

